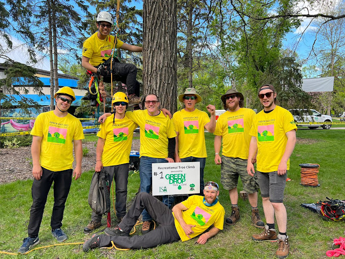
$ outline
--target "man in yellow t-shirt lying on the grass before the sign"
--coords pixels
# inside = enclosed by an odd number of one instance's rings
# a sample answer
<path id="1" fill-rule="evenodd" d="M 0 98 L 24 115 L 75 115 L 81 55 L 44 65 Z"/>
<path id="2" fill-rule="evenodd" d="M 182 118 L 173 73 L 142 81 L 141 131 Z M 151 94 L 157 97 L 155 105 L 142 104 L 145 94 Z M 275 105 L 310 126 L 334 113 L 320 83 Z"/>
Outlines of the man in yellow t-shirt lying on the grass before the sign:
<path id="1" fill-rule="evenodd" d="M 107 228 L 106 235 L 93 235 L 83 245 L 84 252 L 97 247 L 111 246 L 111 241 L 118 248 L 149 248 L 178 240 L 187 241 L 203 233 L 197 240 L 198 244 L 206 241 L 223 230 L 224 208 L 218 202 L 219 186 L 215 182 L 205 184 L 204 197 L 193 195 L 169 210 L 162 202 L 146 192 L 140 192 L 134 199 L 127 214 L 115 229 Z M 129 237 L 136 220 L 146 209 L 158 223 L 155 230 L 145 235 Z"/>

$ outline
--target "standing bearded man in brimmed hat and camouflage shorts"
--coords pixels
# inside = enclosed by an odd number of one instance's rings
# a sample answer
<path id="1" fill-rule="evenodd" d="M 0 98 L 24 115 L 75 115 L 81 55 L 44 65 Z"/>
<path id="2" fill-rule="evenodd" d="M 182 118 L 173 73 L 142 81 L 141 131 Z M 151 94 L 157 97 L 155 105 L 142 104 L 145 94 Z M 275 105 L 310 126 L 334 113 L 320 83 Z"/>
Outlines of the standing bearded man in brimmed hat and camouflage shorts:
<path id="1" fill-rule="evenodd" d="M 243 189 L 248 192 L 249 203 L 252 206 L 252 223 L 256 228 L 263 228 L 258 210 L 259 184 L 256 174 L 247 173 L 247 159 L 249 152 L 249 135 L 255 112 L 243 108 L 243 94 L 236 89 L 229 89 L 221 97 L 224 109 L 216 124 L 215 136 L 215 163 L 221 165 L 221 182 L 224 189 L 229 190 L 231 201 L 231 216 L 225 219 L 228 225 L 234 225 L 239 220 L 237 183 L 241 178 Z M 222 156 L 219 155 L 223 140 Z M 255 163 L 256 156 L 252 163 Z"/>

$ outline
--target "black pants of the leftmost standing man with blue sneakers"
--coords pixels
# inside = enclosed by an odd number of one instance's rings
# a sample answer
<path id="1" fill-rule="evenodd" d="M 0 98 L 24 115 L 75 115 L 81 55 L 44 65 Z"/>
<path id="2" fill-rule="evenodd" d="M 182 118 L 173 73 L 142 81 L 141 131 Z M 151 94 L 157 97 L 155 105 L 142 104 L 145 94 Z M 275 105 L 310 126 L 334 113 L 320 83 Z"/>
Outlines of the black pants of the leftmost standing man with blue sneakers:
<path id="1" fill-rule="evenodd" d="M 32 206 L 30 210 L 29 225 L 27 227 L 27 233 L 30 238 L 39 235 L 44 207 L 53 182 L 54 207 L 50 225 L 52 230 L 61 228 L 63 211 L 72 182 L 72 169 L 58 172 L 53 172 L 45 168 L 42 168 L 42 170 L 41 179 L 33 179 L 31 187 Z"/>

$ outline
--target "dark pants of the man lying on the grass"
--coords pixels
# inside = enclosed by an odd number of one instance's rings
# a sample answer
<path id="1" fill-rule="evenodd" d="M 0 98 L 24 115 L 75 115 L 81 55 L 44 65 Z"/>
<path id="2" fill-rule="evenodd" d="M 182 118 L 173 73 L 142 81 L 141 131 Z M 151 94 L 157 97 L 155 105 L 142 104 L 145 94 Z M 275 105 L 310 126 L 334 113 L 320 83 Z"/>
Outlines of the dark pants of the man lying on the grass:
<path id="1" fill-rule="evenodd" d="M 131 237 L 110 237 L 101 235 L 99 237 L 99 247 L 109 246 L 111 241 L 113 241 L 119 248 L 139 249 L 155 247 L 160 244 L 167 244 L 180 240 L 180 236 L 175 228 L 175 219 L 174 216 L 172 216 L 171 210 L 146 192 L 140 192 L 139 195 L 135 197 L 126 216 L 119 223 L 119 228 L 124 232 L 129 233 L 140 214 L 142 214 L 144 208 L 159 224 L 155 230 L 142 236 L 133 235 Z"/>

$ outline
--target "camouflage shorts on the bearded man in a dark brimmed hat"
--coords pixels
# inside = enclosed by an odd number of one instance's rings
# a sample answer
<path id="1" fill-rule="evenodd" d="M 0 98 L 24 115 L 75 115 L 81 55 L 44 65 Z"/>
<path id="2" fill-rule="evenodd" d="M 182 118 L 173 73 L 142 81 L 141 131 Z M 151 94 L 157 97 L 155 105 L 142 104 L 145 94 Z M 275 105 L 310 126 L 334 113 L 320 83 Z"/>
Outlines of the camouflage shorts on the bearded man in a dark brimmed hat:
<path id="1" fill-rule="evenodd" d="M 247 160 L 222 155 L 221 178 L 224 189 L 231 190 L 237 187 L 238 176 L 241 178 L 243 189 L 248 193 L 259 190 L 256 174 L 252 177 L 247 173 Z"/>

